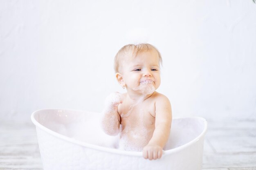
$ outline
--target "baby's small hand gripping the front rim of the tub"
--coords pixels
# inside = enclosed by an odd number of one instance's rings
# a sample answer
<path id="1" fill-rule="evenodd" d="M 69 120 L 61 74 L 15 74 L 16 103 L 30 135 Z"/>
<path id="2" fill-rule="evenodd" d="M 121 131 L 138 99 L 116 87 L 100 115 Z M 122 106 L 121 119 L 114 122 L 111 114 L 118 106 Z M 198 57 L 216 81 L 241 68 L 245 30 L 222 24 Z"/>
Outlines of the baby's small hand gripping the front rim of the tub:
<path id="1" fill-rule="evenodd" d="M 163 149 L 157 144 L 148 144 L 143 148 L 143 157 L 149 160 L 160 159 L 163 154 Z"/>

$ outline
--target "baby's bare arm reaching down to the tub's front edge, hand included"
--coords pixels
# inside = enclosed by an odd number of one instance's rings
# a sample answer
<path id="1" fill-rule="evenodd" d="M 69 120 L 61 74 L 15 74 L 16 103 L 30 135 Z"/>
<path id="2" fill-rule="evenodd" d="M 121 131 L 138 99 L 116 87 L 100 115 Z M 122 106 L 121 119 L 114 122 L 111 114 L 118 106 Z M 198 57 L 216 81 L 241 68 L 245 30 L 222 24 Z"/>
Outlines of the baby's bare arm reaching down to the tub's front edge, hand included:
<path id="1" fill-rule="evenodd" d="M 172 111 L 168 98 L 164 95 L 155 103 L 155 130 L 148 144 L 143 148 L 145 159 L 159 159 L 169 138 L 171 130 Z"/>

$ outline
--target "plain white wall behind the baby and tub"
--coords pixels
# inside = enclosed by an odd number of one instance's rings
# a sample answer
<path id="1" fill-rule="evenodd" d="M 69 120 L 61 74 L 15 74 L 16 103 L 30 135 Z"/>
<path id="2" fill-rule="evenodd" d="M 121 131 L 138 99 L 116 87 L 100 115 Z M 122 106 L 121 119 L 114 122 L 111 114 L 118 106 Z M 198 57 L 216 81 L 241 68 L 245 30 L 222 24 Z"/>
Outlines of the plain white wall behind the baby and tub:
<path id="1" fill-rule="evenodd" d="M 174 117 L 256 118 L 252 0 L 1 0 L 0 119 L 101 111 L 124 92 L 113 59 L 139 28 L 162 53 L 158 91 Z"/>

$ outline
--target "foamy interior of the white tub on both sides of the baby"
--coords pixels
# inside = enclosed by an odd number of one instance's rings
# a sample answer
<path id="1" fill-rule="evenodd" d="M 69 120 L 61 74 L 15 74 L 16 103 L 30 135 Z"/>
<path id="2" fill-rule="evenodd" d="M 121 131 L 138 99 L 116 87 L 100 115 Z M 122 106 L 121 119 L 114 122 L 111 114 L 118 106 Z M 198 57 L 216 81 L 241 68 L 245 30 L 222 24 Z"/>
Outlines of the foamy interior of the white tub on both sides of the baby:
<path id="1" fill-rule="evenodd" d="M 67 110 L 48 110 L 35 115 L 36 121 L 58 134 L 98 146 L 117 148 L 118 136 L 106 135 L 100 126 L 100 113 Z M 171 134 L 164 147 L 170 150 L 192 141 L 204 130 L 203 122 L 173 119 Z"/>

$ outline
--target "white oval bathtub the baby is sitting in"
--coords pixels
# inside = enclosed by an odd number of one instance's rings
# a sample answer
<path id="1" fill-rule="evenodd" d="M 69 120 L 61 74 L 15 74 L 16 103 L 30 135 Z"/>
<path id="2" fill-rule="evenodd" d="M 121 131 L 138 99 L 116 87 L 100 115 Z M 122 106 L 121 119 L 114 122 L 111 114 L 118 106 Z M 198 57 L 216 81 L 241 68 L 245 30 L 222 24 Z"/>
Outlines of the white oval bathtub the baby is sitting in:
<path id="1" fill-rule="evenodd" d="M 97 126 L 92 127 L 97 125 L 92 124 L 95 117 L 99 117 L 99 113 L 78 110 L 44 109 L 32 113 L 31 120 L 36 125 L 44 170 L 202 169 L 207 130 L 204 118 L 173 119 L 171 135 L 162 158 L 150 161 L 142 157 L 142 152 L 103 147 L 104 144 L 109 146 L 112 139 L 99 135 Z M 77 135 L 79 133 L 82 138 Z M 95 139 L 97 144 L 103 146 L 89 144 Z"/>

